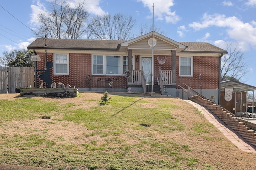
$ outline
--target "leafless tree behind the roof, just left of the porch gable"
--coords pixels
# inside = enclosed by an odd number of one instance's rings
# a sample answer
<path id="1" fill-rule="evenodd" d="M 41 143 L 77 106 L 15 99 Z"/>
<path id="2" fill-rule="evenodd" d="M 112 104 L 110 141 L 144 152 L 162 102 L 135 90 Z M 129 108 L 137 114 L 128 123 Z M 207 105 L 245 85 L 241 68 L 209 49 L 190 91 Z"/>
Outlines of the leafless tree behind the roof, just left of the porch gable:
<path id="1" fill-rule="evenodd" d="M 136 20 L 132 16 L 124 16 L 123 14 L 110 14 L 104 16 L 96 16 L 91 19 L 89 24 L 90 36 L 92 39 L 106 40 L 129 40 L 134 38 L 132 29 Z"/>

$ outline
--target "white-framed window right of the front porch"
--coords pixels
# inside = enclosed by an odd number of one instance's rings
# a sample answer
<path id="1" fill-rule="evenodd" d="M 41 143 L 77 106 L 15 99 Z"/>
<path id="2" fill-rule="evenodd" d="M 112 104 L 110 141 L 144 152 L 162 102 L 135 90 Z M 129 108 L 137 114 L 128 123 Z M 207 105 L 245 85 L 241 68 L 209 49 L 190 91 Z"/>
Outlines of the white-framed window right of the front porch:
<path id="1" fill-rule="evenodd" d="M 192 57 L 180 57 L 180 76 L 192 76 Z"/>

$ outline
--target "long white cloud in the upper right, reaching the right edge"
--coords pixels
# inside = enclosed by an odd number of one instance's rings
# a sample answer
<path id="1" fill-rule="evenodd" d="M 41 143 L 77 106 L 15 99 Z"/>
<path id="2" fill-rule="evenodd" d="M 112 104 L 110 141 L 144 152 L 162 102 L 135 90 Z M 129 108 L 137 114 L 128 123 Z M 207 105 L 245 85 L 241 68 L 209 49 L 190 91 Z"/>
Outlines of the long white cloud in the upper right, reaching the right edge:
<path id="1" fill-rule="evenodd" d="M 226 28 L 226 33 L 230 39 L 243 43 L 246 48 L 250 45 L 256 49 L 255 21 L 244 23 L 235 16 L 226 17 L 220 14 L 204 14 L 201 22 L 193 22 L 190 23 L 189 26 L 196 31 L 214 26 Z"/>

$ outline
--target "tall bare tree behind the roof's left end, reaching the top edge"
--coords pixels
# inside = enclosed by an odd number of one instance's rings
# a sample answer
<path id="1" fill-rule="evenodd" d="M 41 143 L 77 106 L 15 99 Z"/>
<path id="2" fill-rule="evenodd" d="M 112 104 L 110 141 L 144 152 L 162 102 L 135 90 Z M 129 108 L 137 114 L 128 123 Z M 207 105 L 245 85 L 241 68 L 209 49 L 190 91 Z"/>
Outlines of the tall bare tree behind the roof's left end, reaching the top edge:
<path id="1" fill-rule="evenodd" d="M 39 34 L 58 39 L 82 38 L 89 17 L 85 1 L 71 6 L 66 0 L 52 0 L 51 6 L 50 12 L 40 12 L 38 16 Z"/>

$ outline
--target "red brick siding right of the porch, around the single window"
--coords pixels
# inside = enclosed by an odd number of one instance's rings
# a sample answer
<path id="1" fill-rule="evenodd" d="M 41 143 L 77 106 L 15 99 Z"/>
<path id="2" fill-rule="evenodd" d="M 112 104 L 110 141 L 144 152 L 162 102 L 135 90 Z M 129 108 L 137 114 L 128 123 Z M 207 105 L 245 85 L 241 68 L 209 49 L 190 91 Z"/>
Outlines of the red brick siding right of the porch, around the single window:
<path id="1" fill-rule="evenodd" d="M 193 57 L 193 76 L 182 77 L 179 76 L 179 56 L 176 56 L 176 83 L 183 86 L 187 84 L 191 88 L 200 89 L 216 89 L 218 88 L 219 80 L 219 57 Z M 201 78 L 198 81 L 198 75 Z M 177 88 L 179 88 L 177 86 Z"/>

